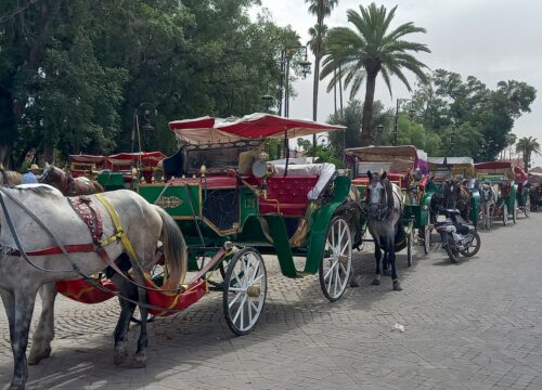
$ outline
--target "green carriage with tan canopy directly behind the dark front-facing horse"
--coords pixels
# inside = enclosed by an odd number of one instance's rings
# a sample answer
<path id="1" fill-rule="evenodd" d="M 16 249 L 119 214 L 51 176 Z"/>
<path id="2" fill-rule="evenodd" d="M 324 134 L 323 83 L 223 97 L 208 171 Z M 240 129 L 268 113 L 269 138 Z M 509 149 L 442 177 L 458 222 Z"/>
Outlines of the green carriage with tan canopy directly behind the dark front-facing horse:
<path id="1" fill-rule="evenodd" d="M 345 151 L 353 158 L 354 184 L 364 197 L 369 184 L 367 171 L 386 171 L 387 178 L 403 193 L 402 232 L 396 237 L 396 251 L 406 247 L 406 264 L 412 264 L 414 231 L 417 230 L 424 250 L 429 251 L 429 207 L 433 193 L 427 190 L 427 155 L 412 145 L 367 146 Z M 415 176 L 418 174 L 418 178 Z M 363 232 L 366 220 L 362 218 Z"/>

